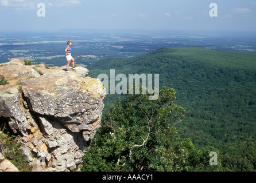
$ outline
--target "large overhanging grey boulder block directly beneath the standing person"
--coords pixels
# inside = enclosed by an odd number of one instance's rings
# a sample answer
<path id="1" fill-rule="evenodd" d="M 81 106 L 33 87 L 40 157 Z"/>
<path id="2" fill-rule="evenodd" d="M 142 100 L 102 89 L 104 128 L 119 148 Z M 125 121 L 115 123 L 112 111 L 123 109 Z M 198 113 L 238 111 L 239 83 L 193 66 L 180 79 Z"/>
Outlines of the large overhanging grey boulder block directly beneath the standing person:
<path id="1" fill-rule="evenodd" d="M 87 69 L 77 67 L 78 71 Z M 57 121 L 73 133 L 84 132 L 88 141 L 100 126 L 106 96 L 99 79 L 80 77 L 76 71 L 53 69 L 37 78 L 22 80 L 22 94 L 30 112 Z M 45 133 L 51 135 L 49 125 Z"/>

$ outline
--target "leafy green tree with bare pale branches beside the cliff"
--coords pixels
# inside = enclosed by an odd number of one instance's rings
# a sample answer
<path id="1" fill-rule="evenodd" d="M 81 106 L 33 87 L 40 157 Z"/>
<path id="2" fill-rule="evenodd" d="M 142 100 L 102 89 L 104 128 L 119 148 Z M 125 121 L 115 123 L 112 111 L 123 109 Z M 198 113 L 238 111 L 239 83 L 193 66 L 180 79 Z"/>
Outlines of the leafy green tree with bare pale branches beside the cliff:
<path id="1" fill-rule="evenodd" d="M 174 101 L 174 89 L 162 87 L 159 98 L 133 94 L 118 100 L 102 121 L 88 148 L 83 171 L 207 171 L 212 149 L 196 149 L 191 140 L 180 142 L 174 125 L 185 110 Z M 216 150 L 215 150 L 216 151 Z"/>

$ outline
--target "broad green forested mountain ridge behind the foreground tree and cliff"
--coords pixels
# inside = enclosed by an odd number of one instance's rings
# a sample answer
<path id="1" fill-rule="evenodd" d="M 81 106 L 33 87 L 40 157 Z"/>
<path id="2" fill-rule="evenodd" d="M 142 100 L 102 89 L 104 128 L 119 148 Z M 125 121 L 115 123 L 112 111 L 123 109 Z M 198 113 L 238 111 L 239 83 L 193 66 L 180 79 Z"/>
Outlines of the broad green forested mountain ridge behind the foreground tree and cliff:
<path id="1" fill-rule="evenodd" d="M 90 76 L 160 74 L 160 87 L 176 90 L 186 113 L 176 125 L 181 139 L 214 146 L 226 171 L 256 169 L 256 54 L 203 47 L 162 47 L 131 58 L 109 58 L 88 66 Z M 120 95 L 108 94 L 104 114 Z M 122 96 L 123 98 L 125 96 Z"/>

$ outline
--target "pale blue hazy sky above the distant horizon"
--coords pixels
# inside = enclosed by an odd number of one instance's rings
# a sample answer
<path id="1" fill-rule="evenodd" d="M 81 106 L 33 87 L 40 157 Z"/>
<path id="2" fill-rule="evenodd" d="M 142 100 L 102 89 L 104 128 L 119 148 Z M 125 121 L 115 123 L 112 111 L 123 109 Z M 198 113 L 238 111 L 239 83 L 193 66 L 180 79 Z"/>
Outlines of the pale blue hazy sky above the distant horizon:
<path id="1" fill-rule="evenodd" d="M 45 17 L 38 17 L 38 3 Z M 211 3 L 218 17 L 210 17 Z M 0 0 L 1 30 L 256 31 L 256 0 Z"/>

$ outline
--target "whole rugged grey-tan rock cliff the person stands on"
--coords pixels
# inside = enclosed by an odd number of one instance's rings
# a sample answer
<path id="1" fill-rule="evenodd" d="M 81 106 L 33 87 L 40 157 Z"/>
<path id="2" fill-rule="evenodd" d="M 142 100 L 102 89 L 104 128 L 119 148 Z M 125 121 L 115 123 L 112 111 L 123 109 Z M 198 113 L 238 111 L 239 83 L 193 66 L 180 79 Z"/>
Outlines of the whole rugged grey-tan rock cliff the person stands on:
<path id="1" fill-rule="evenodd" d="M 21 151 L 37 170 L 76 168 L 100 127 L 102 83 L 87 77 L 86 68 L 64 68 L 24 66 L 18 59 L 0 67 L 1 77 L 9 79 L 0 86 L 0 116 L 20 134 Z"/>

